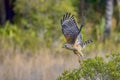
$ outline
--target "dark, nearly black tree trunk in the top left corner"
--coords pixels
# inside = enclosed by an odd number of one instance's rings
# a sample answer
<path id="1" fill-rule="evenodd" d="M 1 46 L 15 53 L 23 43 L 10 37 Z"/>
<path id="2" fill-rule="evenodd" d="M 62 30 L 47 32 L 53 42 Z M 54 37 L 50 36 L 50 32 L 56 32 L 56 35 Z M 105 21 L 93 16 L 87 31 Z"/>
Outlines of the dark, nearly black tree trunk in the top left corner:
<path id="1" fill-rule="evenodd" d="M 13 22 L 14 11 L 13 3 L 15 0 L 0 0 L 0 24 L 4 24 L 6 20 Z"/>

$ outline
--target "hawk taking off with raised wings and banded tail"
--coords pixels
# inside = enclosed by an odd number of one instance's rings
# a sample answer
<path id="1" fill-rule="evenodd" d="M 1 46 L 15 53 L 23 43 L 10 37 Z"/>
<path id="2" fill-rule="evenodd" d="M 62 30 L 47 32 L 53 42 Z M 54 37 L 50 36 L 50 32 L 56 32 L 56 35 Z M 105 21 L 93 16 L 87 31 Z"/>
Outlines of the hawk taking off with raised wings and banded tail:
<path id="1" fill-rule="evenodd" d="M 81 62 L 83 57 L 82 49 L 92 40 L 82 42 L 81 30 L 83 24 L 78 28 L 74 16 L 71 13 L 66 13 L 61 19 L 62 33 L 64 34 L 67 43 L 63 45 L 63 48 L 72 50 L 77 56 L 78 61 Z"/>

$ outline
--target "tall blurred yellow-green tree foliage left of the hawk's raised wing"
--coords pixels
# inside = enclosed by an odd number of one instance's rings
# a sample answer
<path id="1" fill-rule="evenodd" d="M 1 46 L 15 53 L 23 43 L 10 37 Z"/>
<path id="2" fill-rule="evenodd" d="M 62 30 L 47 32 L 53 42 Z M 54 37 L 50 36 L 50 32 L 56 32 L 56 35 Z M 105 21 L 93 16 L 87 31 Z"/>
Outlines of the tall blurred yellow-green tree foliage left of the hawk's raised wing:
<path id="1" fill-rule="evenodd" d="M 76 15 L 69 0 L 16 0 L 15 22 L 32 27 L 47 46 L 61 39 L 60 19 L 66 12 Z"/>

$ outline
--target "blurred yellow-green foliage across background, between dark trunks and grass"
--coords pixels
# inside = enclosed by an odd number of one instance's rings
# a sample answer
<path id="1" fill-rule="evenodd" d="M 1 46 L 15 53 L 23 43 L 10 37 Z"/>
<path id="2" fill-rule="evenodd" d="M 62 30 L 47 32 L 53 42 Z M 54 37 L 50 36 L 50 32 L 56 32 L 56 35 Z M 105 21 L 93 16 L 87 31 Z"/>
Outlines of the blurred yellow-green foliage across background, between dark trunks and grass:
<path id="1" fill-rule="evenodd" d="M 12 4 L 13 0 L 10 0 Z M 104 0 L 85 0 L 85 26 L 82 29 L 83 41 L 94 40 L 84 51 L 120 50 L 120 33 L 113 34 L 107 45 L 101 44 L 105 19 L 102 16 Z M 105 6 L 105 5 L 104 5 Z M 102 8 L 101 8 L 102 7 Z M 101 11 L 102 10 L 102 11 Z M 15 0 L 14 25 L 6 23 L 1 26 L 0 40 L 2 45 L 11 47 L 11 44 L 20 48 L 43 48 L 60 51 L 65 43 L 61 32 L 60 19 L 66 12 L 71 12 L 79 21 L 80 0 Z M 101 17 L 102 16 L 102 17 Z M 39 43 L 39 44 L 38 44 Z M 111 44 L 109 44 L 111 43 Z M 116 44 L 115 44 L 116 43 Z M 89 45 L 88 45 L 89 46 Z M 109 46 L 109 47 L 108 47 Z M 57 48 L 57 49 L 56 49 Z M 65 51 L 62 49 L 62 51 Z M 66 52 L 67 53 L 67 52 Z"/>

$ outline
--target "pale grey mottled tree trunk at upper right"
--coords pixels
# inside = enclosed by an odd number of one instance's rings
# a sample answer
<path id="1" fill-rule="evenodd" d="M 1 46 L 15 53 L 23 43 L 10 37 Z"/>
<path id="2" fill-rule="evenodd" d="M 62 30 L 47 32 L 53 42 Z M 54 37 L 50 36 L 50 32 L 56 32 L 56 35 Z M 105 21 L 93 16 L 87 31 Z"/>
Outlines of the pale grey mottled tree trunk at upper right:
<path id="1" fill-rule="evenodd" d="M 104 29 L 104 41 L 110 36 L 110 29 L 112 26 L 112 14 L 113 14 L 113 0 L 106 0 L 106 13 L 105 13 L 105 29 Z"/>

